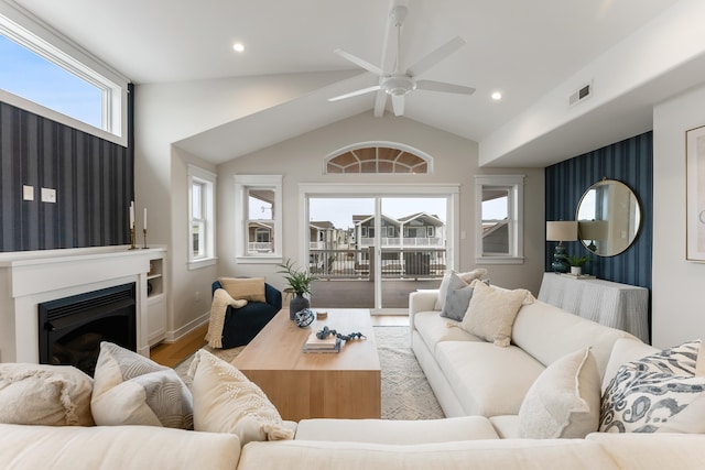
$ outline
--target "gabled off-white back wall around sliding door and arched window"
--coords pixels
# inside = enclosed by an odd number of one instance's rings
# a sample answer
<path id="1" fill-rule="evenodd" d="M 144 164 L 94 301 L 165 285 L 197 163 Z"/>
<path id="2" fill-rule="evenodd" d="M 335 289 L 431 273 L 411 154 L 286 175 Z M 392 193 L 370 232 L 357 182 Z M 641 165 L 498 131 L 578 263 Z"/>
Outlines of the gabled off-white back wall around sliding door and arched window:
<path id="1" fill-rule="evenodd" d="M 332 152 L 357 142 L 399 142 L 434 157 L 431 175 L 324 175 L 323 160 Z M 475 266 L 475 175 L 525 174 L 525 237 L 522 265 L 488 265 L 491 281 L 507 287 L 528 287 L 538 293 L 543 272 L 544 172 L 543 168 L 478 168 L 477 143 L 405 118 L 375 118 L 365 112 L 332 123 L 281 144 L 251 153 L 218 166 L 218 272 L 220 275 L 258 275 L 283 288 L 276 266 L 237 264 L 235 261 L 236 174 L 281 174 L 283 178 L 284 258 L 297 260 L 300 253 L 299 184 L 369 183 L 384 184 L 459 184 L 460 270 Z M 301 261 L 301 260 L 297 260 Z"/>

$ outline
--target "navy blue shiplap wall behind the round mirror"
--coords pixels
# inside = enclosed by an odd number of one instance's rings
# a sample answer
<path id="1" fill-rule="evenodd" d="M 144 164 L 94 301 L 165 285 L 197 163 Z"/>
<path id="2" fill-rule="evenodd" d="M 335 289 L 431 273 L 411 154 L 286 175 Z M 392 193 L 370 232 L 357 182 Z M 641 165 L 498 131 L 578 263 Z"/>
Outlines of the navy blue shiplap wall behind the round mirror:
<path id="1" fill-rule="evenodd" d="M 597 277 L 651 288 L 653 238 L 653 134 L 647 132 L 576 156 L 545 170 L 546 220 L 575 220 L 583 193 L 603 179 L 625 183 L 641 205 L 641 229 L 634 243 L 616 256 L 593 256 L 585 271 Z M 571 254 L 588 251 L 581 242 L 565 243 Z M 555 242 L 546 243 L 546 271 Z"/>

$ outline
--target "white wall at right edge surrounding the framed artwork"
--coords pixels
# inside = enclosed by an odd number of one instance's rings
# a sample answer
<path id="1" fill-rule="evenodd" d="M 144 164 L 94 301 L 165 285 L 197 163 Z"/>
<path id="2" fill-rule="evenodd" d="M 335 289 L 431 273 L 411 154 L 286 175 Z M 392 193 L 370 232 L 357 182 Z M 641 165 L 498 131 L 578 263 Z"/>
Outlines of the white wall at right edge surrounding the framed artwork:
<path id="1" fill-rule="evenodd" d="M 653 111 L 652 332 L 659 348 L 705 339 L 705 264 L 685 261 L 685 131 L 705 124 L 705 87 Z"/>

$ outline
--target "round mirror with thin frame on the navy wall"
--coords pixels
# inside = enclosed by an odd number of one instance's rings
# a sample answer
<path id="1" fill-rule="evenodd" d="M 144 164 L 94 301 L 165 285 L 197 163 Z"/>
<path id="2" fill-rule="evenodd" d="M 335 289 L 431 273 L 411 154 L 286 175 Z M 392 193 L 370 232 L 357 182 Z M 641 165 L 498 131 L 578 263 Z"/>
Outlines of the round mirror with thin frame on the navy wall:
<path id="1" fill-rule="evenodd" d="M 598 256 L 627 250 L 639 234 L 641 207 L 623 183 L 604 179 L 594 184 L 577 205 L 578 239 Z"/>

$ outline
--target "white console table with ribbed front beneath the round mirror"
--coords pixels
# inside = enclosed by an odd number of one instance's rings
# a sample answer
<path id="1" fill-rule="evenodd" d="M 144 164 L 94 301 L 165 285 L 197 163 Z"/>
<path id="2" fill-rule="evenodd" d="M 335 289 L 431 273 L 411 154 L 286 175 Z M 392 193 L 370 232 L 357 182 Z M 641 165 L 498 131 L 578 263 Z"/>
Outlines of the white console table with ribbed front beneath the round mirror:
<path id="1" fill-rule="evenodd" d="M 649 289 L 644 287 L 544 273 L 539 300 L 649 342 Z"/>

